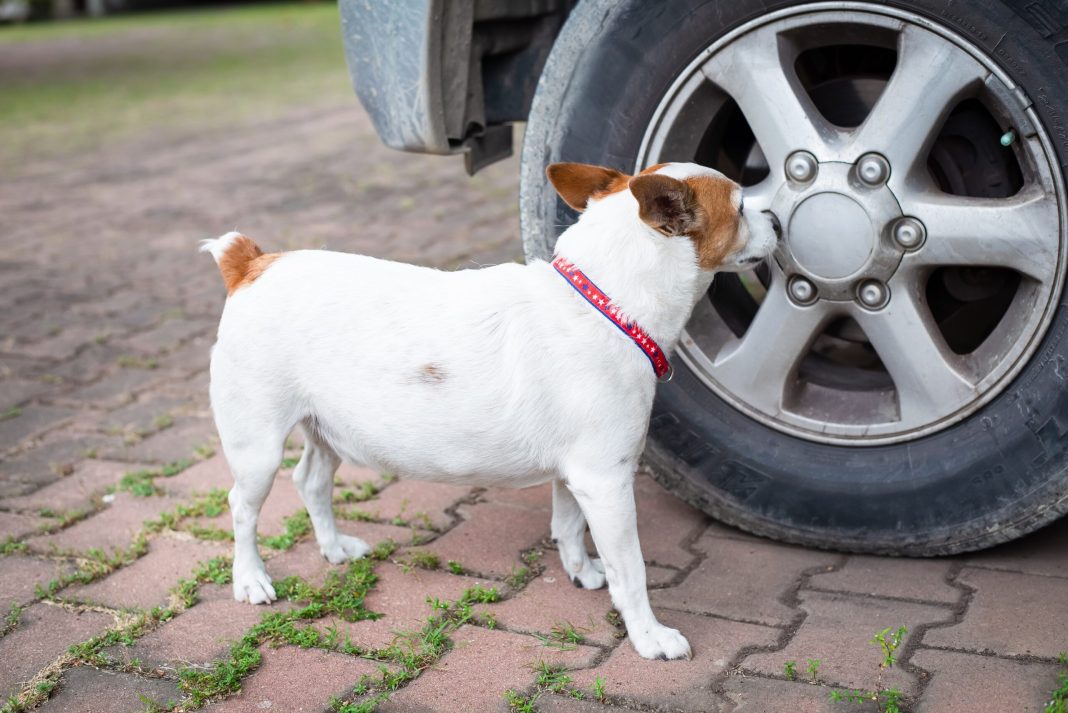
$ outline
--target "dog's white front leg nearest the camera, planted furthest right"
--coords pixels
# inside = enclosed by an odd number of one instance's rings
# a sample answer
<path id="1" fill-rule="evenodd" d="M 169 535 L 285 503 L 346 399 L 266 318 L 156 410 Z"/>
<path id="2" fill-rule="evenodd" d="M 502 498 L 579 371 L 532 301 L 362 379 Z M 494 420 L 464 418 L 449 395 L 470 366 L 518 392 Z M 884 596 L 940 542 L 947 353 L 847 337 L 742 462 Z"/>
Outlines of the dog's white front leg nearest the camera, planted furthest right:
<path id="1" fill-rule="evenodd" d="M 633 474 L 567 468 L 564 477 L 590 523 L 612 603 L 627 624 L 634 650 L 646 659 L 689 659 L 686 637 L 657 621 L 649 606 L 645 560 L 638 542 Z"/>

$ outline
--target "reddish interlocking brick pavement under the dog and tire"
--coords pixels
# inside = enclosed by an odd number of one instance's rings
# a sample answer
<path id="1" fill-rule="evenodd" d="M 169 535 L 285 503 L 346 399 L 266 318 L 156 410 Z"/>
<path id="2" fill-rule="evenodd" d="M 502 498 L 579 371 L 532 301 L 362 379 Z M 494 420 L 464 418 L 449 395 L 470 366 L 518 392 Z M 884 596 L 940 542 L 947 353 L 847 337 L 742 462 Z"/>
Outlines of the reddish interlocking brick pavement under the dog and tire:
<path id="1" fill-rule="evenodd" d="M 389 152 L 355 102 L 147 148 L 0 181 L 0 695 L 47 711 L 493 711 L 511 695 L 577 713 L 823 713 L 877 710 L 836 690 L 894 686 L 904 711 L 1042 710 L 1068 650 L 1068 522 L 958 558 L 845 556 L 713 523 L 642 476 L 654 606 L 695 654 L 646 662 L 607 592 L 567 583 L 545 488 L 345 468 L 342 528 L 399 545 L 365 599 L 231 601 L 206 393 L 222 288 L 195 239 L 236 223 L 271 249 L 512 259 L 517 167 L 468 179 L 456 160 Z M 287 474 L 267 567 L 325 591 L 346 569 L 318 556 Z M 880 670 L 869 639 L 902 625 Z"/>

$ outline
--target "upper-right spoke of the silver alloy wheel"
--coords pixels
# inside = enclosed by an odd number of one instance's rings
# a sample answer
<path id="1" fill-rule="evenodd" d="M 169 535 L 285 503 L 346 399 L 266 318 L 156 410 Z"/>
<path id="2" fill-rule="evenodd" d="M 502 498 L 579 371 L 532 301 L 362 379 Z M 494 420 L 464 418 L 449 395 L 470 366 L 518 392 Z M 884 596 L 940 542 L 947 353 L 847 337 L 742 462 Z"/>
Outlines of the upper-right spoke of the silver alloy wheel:
<path id="1" fill-rule="evenodd" d="M 945 117 L 986 77 L 962 49 L 942 37 L 908 26 L 898 39 L 897 67 L 879 100 L 857 129 L 843 159 L 878 152 L 892 167 L 892 188 L 927 155 Z"/>

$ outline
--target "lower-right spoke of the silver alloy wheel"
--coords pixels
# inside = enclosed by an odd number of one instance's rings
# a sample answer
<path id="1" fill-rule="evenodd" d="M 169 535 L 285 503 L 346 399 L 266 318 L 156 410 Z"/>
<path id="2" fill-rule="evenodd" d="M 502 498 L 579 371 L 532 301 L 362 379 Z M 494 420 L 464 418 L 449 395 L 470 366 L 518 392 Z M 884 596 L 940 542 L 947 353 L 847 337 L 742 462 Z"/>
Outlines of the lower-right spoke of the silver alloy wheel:
<path id="1" fill-rule="evenodd" d="M 972 378 L 914 286 L 895 289 L 879 312 L 857 307 L 853 317 L 894 380 L 901 426 L 927 423 L 975 398 Z"/>

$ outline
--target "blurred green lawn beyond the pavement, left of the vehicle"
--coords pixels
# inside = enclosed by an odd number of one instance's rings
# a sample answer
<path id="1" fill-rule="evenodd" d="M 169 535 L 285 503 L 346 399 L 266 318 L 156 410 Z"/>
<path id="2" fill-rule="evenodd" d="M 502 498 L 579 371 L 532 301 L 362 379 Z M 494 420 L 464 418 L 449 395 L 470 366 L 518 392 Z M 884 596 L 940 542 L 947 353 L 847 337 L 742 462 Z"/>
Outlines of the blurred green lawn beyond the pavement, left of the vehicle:
<path id="1" fill-rule="evenodd" d="M 0 170 L 351 100 L 333 3 L 0 27 Z"/>

